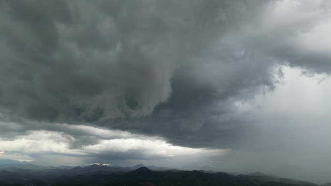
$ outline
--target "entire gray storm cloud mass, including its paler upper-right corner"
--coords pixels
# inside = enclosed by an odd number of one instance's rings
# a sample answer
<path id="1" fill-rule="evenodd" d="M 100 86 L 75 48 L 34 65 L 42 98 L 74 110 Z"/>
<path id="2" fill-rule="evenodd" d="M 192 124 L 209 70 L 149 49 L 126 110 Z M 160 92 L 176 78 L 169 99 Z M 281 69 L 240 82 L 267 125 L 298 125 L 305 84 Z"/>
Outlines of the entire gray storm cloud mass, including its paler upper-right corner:
<path id="1" fill-rule="evenodd" d="M 282 85 L 282 65 L 329 74 L 330 14 L 327 0 L 0 0 L 1 139 L 55 131 L 79 150 L 123 137 L 71 128 L 84 124 L 288 156 L 296 143 L 270 127 L 287 121 L 238 105 Z M 146 156 L 112 152 L 91 156 Z"/>

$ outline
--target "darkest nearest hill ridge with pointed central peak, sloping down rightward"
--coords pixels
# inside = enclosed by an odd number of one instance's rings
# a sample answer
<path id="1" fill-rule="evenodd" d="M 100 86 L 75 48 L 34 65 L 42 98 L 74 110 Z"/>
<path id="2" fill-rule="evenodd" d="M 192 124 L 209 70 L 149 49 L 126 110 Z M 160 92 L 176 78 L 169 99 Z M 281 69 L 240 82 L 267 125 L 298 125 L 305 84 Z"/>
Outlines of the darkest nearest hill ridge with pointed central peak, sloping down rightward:
<path id="1" fill-rule="evenodd" d="M 141 167 L 123 174 L 62 177 L 53 186 L 317 186 L 272 176 L 234 176 L 225 172 L 152 171 Z"/>

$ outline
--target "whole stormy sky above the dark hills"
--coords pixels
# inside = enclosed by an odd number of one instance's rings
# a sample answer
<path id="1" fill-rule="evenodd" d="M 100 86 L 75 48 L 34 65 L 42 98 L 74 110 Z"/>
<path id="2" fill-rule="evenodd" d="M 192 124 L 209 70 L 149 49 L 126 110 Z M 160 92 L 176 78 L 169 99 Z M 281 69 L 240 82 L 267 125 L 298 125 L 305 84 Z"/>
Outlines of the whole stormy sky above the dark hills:
<path id="1" fill-rule="evenodd" d="M 330 30 L 330 0 L 0 0 L 0 159 L 330 172 Z"/>

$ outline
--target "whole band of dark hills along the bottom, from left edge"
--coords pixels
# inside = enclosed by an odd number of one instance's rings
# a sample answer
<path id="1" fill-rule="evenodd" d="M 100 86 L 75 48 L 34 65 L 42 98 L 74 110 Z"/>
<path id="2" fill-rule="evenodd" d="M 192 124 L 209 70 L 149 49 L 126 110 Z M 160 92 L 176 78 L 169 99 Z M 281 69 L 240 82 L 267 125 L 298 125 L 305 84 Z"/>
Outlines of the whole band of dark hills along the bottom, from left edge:
<path id="1" fill-rule="evenodd" d="M 317 186 L 261 172 L 231 175 L 226 172 L 153 171 L 147 167 L 128 171 L 103 165 L 50 170 L 16 168 L 12 171 L 16 172 L 0 171 L 0 186 Z"/>

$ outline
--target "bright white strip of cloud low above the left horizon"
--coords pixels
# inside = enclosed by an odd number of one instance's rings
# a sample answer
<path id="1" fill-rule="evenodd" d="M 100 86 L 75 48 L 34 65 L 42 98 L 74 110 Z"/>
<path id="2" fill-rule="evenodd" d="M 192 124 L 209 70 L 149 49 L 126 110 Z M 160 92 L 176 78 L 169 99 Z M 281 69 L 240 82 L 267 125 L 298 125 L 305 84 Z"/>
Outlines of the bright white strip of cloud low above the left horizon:
<path id="1" fill-rule="evenodd" d="M 179 156 L 221 155 L 226 152 L 226 150 L 219 149 L 175 146 L 166 143 L 160 137 L 131 134 L 119 130 L 83 125 L 55 125 L 63 128 L 63 131 L 30 130 L 12 140 L 0 139 L 0 151 L 2 152 L 0 158 L 38 162 L 38 158 L 34 157 L 60 155 L 107 163 L 107 161 L 114 161 L 115 157 L 123 157 L 119 160 L 164 159 Z M 64 130 L 68 130 L 68 132 L 64 132 Z M 77 135 L 78 132 L 79 135 Z M 79 142 L 80 145 L 75 145 L 77 141 L 90 138 L 93 139 L 90 143 L 80 144 Z"/>

